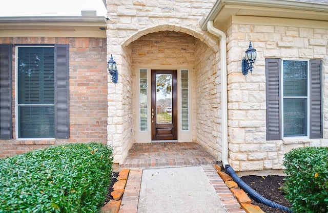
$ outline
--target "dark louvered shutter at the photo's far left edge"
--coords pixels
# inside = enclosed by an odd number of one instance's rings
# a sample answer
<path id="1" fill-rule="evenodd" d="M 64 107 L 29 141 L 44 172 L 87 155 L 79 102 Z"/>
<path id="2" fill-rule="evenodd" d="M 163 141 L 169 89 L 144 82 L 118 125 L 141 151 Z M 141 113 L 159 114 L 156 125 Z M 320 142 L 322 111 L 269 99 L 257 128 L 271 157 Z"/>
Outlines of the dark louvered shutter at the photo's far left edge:
<path id="1" fill-rule="evenodd" d="M 0 44 L 0 139 L 12 138 L 12 44 Z"/>

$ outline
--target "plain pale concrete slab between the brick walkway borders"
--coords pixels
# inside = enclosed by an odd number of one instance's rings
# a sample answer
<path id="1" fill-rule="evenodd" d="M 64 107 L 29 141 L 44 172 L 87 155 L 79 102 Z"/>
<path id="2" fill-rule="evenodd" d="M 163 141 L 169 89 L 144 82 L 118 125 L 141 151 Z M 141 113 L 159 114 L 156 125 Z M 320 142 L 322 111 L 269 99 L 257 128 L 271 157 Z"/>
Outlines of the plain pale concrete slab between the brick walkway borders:
<path id="1" fill-rule="evenodd" d="M 226 213 L 201 167 L 146 169 L 138 213 Z"/>

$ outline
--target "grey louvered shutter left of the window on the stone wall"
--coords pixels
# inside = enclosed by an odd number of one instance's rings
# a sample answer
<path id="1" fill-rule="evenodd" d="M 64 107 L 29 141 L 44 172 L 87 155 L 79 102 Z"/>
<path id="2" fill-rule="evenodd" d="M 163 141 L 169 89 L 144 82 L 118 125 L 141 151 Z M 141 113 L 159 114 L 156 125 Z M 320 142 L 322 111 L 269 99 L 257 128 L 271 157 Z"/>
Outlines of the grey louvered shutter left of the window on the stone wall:
<path id="1" fill-rule="evenodd" d="M 265 59 L 267 88 L 267 140 L 281 139 L 281 60 Z"/>

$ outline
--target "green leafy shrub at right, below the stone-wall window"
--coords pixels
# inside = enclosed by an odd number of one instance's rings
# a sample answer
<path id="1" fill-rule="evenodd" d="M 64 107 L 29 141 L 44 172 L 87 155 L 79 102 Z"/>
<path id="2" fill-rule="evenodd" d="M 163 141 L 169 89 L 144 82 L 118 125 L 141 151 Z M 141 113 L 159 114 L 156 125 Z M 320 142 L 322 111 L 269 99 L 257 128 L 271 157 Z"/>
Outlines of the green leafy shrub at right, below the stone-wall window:
<path id="1" fill-rule="evenodd" d="M 293 212 L 328 212 L 328 147 L 293 149 L 283 165 L 286 199 Z"/>

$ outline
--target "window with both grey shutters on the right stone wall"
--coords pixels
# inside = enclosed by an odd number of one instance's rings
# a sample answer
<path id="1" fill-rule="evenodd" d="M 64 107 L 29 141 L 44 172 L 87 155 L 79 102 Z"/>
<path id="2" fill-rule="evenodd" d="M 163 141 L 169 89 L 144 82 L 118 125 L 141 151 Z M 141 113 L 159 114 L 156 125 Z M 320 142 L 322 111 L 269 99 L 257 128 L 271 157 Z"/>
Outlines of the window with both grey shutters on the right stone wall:
<path id="1" fill-rule="evenodd" d="M 323 137 L 321 73 L 321 60 L 265 59 L 267 140 Z"/>

